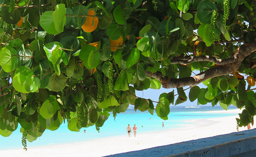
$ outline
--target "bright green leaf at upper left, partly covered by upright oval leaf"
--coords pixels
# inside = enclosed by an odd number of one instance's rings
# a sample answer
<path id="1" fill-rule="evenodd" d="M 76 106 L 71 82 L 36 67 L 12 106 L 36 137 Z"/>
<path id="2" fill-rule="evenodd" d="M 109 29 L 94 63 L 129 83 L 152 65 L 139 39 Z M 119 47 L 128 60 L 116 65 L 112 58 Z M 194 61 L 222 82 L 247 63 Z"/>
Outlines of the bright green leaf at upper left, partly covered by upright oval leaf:
<path id="1" fill-rule="evenodd" d="M 40 16 L 40 26 L 49 34 L 57 35 L 61 33 L 55 29 L 53 11 L 46 11 Z"/>

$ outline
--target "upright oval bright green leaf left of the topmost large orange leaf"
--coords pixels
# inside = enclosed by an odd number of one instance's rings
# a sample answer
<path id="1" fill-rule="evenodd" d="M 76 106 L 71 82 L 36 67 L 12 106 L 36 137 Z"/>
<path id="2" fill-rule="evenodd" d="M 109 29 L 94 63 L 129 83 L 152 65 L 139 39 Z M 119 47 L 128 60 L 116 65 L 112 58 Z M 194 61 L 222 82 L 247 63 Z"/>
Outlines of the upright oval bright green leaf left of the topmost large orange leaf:
<path id="1" fill-rule="evenodd" d="M 65 4 L 58 4 L 53 12 L 54 28 L 58 33 L 63 32 L 64 25 L 66 23 L 66 10 Z"/>

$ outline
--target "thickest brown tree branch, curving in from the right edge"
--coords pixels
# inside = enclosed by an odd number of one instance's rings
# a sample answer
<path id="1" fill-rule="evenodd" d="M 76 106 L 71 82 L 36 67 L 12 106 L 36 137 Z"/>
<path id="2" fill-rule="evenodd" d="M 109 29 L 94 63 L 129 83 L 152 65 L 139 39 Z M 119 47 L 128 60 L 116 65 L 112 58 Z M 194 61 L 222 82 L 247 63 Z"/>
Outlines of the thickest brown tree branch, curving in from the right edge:
<path id="1" fill-rule="evenodd" d="M 149 77 L 158 79 L 161 82 L 163 88 L 167 88 L 167 89 L 184 87 L 184 86 L 195 86 L 207 79 L 215 78 L 222 75 L 228 75 L 232 72 L 237 71 L 237 69 L 243 62 L 243 59 L 245 59 L 245 57 L 249 56 L 255 51 L 256 51 L 256 41 L 250 44 L 243 44 L 243 46 L 240 47 L 239 51 L 236 52 L 234 55 L 236 56 L 236 62 L 211 68 L 193 77 L 172 79 L 168 77 L 163 78 L 161 72 L 156 72 L 156 73 L 146 72 L 146 74 Z"/>

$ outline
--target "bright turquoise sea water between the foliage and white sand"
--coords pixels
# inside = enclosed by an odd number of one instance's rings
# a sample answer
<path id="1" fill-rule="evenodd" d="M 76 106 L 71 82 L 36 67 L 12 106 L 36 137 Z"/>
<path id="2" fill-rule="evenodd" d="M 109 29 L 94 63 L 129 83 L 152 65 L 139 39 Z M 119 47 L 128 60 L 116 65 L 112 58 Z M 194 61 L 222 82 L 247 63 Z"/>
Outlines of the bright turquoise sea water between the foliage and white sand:
<path id="1" fill-rule="evenodd" d="M 236 108 L 229 106 L 229 109 Z M 206 111 L 223 110 L 220 106 L 198 106 L 198 107 L 185 107 L 173 106 L 170 108 L 168 120 L 162 120 L 157 117 L 156 113 L 152 116 L 150 113 L 134 111 L 129 107 L 125 113 L 117 114 L 115 120 L 112 115 L 109 116 L 103 127 L 100 128 L 100 133 L 96 131 L 94 126 L 89 128 L 82 128 L 80 132 L 72 132 L 67 129 L 67 124 L 61 124 L 60 128 L 56 131 L 46 130 L 44 134 L 32 143 L 27 143 L 27 147 L 42 146 L 58 143 L 70 143 L 93 140 L 101 137 L 113 137 L 119 135 L 127 135 L 126 127 L 128 124 L 131 127 L 136 124 L 138 130 L 137 134 L 147 131 L 161 131 L 171 128 L 179 127 L 179 124 L 185 124 L 184 121 L 189 119 L 207 119 L 219 118 L 226 116 L 236 115 L 234 113 L 207 113 Z M 164 122 L 164 127 L 162 127 Z M 143 127 L 142 127 L 143 125 Z M 86 133 L 83 130 L 86 129 Z M 10 137 L 0 136 L 0 150 L 22 148 L 21 145 L 20 126 L 12 133 Z"/>

